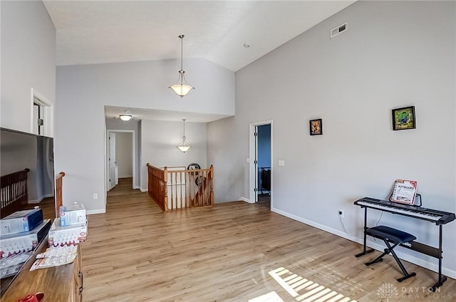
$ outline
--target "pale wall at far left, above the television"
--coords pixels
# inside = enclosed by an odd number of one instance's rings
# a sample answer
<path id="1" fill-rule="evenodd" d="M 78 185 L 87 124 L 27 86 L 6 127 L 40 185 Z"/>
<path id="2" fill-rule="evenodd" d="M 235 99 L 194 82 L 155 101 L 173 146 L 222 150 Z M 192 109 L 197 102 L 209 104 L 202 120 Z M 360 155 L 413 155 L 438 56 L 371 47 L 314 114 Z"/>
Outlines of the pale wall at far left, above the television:
<path id="1" fill-rule="evenodd" d="M 56 29 L 42 1 L 0 1 L 1 127 L 31 132 L 31 88 L 54 103 Z"/>

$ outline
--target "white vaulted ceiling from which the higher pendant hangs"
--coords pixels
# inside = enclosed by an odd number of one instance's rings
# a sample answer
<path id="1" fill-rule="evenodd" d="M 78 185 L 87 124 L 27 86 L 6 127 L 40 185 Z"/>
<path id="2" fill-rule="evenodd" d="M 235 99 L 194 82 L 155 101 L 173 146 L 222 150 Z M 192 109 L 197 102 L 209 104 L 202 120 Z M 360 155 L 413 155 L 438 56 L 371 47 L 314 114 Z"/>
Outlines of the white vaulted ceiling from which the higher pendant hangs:
<path id="1" fill-rule="evenodd" d="M 353 2 L 43 1 L 56 27 L 57 66 L 180 58 L 177 36 L 184 34 L 184 59 L 205 58 L 231 71 Z"/>

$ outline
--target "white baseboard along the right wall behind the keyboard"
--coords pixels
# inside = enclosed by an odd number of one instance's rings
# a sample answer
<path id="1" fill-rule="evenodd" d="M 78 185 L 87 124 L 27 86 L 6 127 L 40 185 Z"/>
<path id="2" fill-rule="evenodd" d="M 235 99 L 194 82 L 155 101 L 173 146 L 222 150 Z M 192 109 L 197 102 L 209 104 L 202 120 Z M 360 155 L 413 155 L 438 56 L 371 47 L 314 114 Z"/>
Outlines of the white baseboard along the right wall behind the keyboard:
<path id="1" fill-rule="evenodd" d="M 358 244 L 363 244 L 363 240 L 362 239 L 358 239 L 358 238 L 356 238 L 354 236 L 348 236 L 348 234 L 344 233 L 343 231 L 339 231 L 338 229 L 332 229 L 332 228 L 327 227 L 327 226 L 325 226 L 323 224 L 318 224 L 316 222 L 312 222 L 310 220 L 307 220 L 307 219 L 304 219 L 304 218 L 301 218 L 301 217 L 297 217 L 296 215 L 281 211 L 281 210 L 276 209 L 276 208 L 272 208 L 271 212 L 275 212 L 277 214 L 281 214 L 281 215 L 283 215 L 285 217 L 289 217 L 289 218 L 294 219 L 294 220 L 296 220 L 298 222 L 302 222 L 303 224 L 308 224 L 311 227 L 316 227 L 317 229 L 321 229 L 323 231 L 327 231 L 328 233 L 343 237 L 343 238 L 351 240 L 351 241 L 355 241 Z M 366 246 L 371 247 L 372 249 L 375 249 L 377 251 L 382 251 L 382 252 L 385 249 L 384 245 L 377 244 L 377 243 L 375 243 L 373 241 L 369 241 L 369 240 L 367 241 Z M 361 251 L 361 249 L 360 249 L 360 251 Z M 398 254 L 398 257 L 400 259 L 403 259 L 405 261 L 409 261 L 409 262 L 411 262 L 413 264 L 416 264 L 418 266 L 422 266 L 425 269 L 430 269 L 431 271 L 435 271 L 436 273 L 439 271 L 438 259 L 435 259 L 435 261 L 430 262 L 430 261 L 425 261 L 423 259 L 417 258 L 417 257 L 412 256 L 410 254 L 405 254 L 402 251 L 396 251 L 396 254 Z M 445 275 L 445 276 L 451 277 L 451 278 L 456 278 L 456 271 L 453 271 L 451 269 L 447 269 L 445 267 L 442 267 L 442 274 Z M 438 277 L 435 276 L 435 280 L 436 281 L 437 281 L 437 278 Z M 430 286 L 432 286 L 432 284 Z"/>

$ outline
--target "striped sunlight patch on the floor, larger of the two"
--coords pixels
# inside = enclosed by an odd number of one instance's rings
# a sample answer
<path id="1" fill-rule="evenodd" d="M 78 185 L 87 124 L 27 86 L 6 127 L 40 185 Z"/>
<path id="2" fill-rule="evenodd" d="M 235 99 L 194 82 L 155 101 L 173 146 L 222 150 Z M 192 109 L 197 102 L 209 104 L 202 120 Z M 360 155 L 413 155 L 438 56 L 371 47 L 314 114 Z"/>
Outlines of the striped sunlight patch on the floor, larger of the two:
<path id="1" fill-rule="evenodd" d="M 330 288 L 293 274 L 283 267 L 269 271 L 269 275 L 299 302 L 356 302 Z"/>

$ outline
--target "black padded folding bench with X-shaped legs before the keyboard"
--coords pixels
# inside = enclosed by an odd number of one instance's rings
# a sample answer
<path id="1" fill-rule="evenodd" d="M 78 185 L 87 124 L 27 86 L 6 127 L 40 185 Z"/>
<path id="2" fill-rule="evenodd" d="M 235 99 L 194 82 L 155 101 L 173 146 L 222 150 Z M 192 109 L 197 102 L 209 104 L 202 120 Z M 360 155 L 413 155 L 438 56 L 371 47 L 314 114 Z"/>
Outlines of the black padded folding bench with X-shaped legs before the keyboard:
<path id="1" fill-rule="evenodd" d="M 398 263 L 400 270 L 404 274 L 404 276 L 402 278 L 398 278 L 399 282 L 402 282 L 405 279 L 408 279 L 408 278 L 416 275 L 415 273 L 408 274 L 408 272 L 405 270 L 405 267 L 400 262 L 398 255 L 396 255 L 396 253 L 394 251 L 394 248 L 396 246 L 398 246 L 399 244 L 403 244 L 405 242 L 410 242 L 410 241 L 415 240 L 416 239 L 415 236 L 413 236 L 412 234 L 405 233 L 405 231 L 399 231 L 398 229 L 393 229 L 393 228 L 385 227 L 385 226 L 368 228 L 368 229 L 366 229 L 366 234 L 368 234 L 369 236 L 378 238 L 378 239 L 382 239 L 385 242 L 386 246 L 388 246 L 388 249 L 385 249 L 383 254 L 378 256 L 373 261 L 367 262 L 366 266 L 375 264 L 379 261 L 383 261 L 383 256 L 391 253 L 393 255 L 395 261 Z M 390 242 L 393 242 L 393 246 L 390 245 Z"/>

